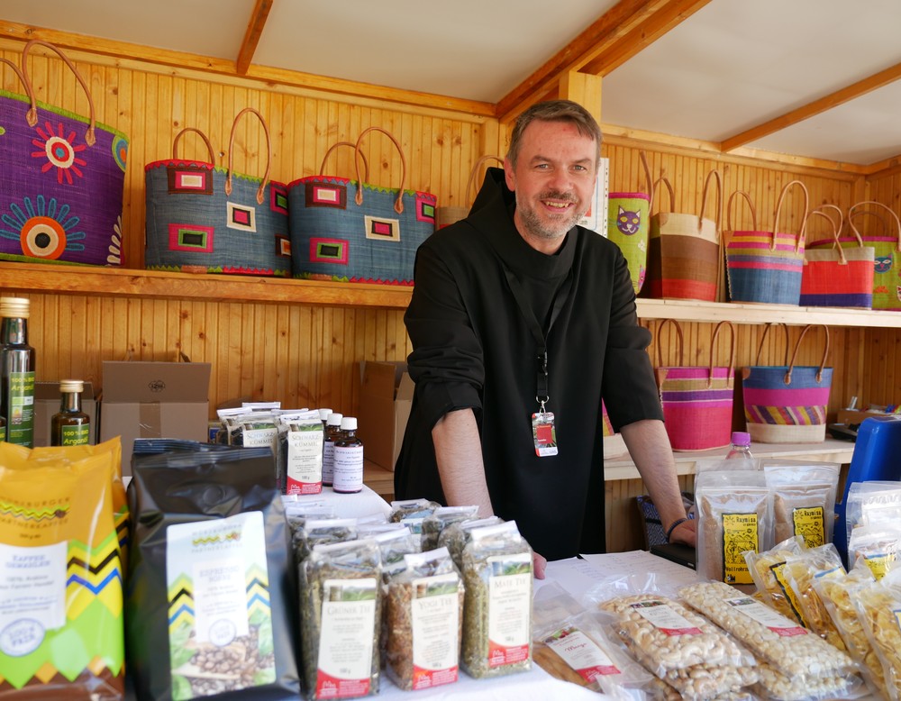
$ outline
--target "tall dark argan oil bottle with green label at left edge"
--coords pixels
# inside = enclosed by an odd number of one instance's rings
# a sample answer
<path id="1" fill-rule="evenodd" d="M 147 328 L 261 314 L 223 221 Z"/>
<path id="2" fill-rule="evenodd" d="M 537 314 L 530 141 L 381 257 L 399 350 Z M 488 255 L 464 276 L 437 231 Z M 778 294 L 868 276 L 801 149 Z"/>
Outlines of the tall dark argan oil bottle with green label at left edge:
<path id="1" fill-rule="evenodd" d="M 35 353 L 28 345 L 29 300 L 0 297 L 0 415 L 11 443 L 34 444 Z"/>

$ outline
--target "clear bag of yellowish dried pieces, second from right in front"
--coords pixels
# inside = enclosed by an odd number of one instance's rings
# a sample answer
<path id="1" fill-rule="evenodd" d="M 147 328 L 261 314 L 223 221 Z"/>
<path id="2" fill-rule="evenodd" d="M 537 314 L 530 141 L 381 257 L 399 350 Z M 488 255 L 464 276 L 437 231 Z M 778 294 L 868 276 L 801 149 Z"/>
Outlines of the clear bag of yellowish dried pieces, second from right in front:
<path id="1" fill-rule="evenodd" d="M 886 676 L 873 645 L 869 642 L 863 622 L 854 605 L 860 590 L 869 587 L 876 579 L 866 567 L 851 569 L 842 578 L 814 579 L 814 589 L 823 601 L 826 611 L 842 636 L 851 659 L 860 665 L 860 674 L 872 693 L 888 697 Z"/>

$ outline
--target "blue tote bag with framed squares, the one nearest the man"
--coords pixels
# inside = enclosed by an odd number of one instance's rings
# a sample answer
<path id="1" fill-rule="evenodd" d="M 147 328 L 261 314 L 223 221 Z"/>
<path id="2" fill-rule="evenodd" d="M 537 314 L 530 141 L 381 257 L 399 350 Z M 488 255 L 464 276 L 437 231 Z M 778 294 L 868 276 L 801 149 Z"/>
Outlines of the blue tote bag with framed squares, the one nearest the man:
<path id="1" fill-rule="evenodd" d="M 300 178 L 288 185 L 292 270 L 295 278 L 413 285 L 416 250 L 435 230 L 435 196 L 406 190 L 406 159 L 400 143 L 380 127 L 400 153 L 400 187 L 368 185 L 354 159 L 355 180 Z"/>

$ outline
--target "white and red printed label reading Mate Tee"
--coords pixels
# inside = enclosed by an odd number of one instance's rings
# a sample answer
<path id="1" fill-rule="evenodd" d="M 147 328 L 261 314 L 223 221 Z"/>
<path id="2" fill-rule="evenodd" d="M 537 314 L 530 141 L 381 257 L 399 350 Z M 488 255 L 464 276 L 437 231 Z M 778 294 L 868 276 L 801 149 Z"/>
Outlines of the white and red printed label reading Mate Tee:
<path id="1" fill-rule="evenodd" d="M 488 558 L 488 667 L 529 659 L 532 631 L 532 555 Z"/>

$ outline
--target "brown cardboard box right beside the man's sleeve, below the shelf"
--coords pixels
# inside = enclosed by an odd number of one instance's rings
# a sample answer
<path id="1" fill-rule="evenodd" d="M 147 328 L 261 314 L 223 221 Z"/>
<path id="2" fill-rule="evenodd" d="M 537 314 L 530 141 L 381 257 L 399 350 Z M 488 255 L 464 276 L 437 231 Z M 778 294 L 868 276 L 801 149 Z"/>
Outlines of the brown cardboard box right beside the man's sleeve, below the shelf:
<path id="1" fill-rule="evenodd" d="M 363 442 L 363 456 L 393 470 L 410 418 L 414 382 L 405 362 L 363 361 L 359 372 L 357 435 Z"/>

